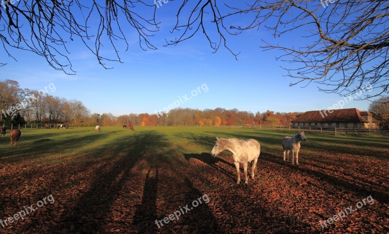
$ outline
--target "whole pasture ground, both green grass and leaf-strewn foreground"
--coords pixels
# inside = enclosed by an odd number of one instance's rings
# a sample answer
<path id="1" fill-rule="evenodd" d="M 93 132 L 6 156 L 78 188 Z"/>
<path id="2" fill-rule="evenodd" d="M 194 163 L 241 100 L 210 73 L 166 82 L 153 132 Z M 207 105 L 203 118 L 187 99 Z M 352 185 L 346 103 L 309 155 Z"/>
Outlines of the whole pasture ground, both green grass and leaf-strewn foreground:
<path id="1" fill-rule="evenodd" d="M 22 129 L 17 146 L 1 137 L 0 218 L 36 208 L 49 195 L 54 202 L 0 224 L 0 232 L 389 232 L 388 136 L 306 132 L 294 166 L 283 161 L 281 146 L 293 132 L 135 130 Z M 215 136 L 261 143 L 248 185 L 235 184 L 230 152 L 211 156 Z M 324 222 L 345 210 L 351 213 Z"/>

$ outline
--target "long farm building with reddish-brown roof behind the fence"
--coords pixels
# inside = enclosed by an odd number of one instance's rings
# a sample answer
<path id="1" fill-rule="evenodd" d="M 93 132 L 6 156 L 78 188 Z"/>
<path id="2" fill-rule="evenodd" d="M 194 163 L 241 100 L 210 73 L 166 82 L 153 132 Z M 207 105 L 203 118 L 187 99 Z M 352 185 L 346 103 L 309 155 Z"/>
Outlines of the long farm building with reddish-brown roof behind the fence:
<path id="1" fill-rule="evenodd" d="M 356 108 L 311 110 L 298 115 L 292 121 L 292 127 L 375 128 L 376 122 L 369 111 L 360 111 Z"/>

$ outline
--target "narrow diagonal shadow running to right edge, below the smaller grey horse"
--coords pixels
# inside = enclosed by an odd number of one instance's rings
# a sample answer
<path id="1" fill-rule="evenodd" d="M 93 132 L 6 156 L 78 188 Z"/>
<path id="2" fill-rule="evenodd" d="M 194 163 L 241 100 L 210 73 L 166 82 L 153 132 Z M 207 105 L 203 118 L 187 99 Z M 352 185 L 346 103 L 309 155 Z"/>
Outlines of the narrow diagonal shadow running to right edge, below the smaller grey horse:
<path id="1" fill-rule="evenodd" d="M 282 167 L 289 167 L 291 170 L 296 170 L 300 172 L 307 173 L 309 175 L 313 175 L 318 178 L 318 181 L 324 180 L 328 184 L 335 185 L 339 188 L 343 188 L 346 191 L 352 192 L 354 194 L 358 194 L 360 197 L 367 197 L 371 195 L 374 199 L 379 200 L 382 203 L 389 203 L 389 194 L 385 191 L 377 191 L 373 188 L 367 188 L 366 185 L 360 184 L 358 182 L 350 183 L 347 180 L 339 179 L 338 177 L 328 175 L 326 173 L 313 171 L 308 168 L 305 168 L 303 165 L 294 166 L 288 163 L 283 163 L 280 159 L 277 159 L 274 155 L 270 154 L 262 154 L 262 159 L 271 163 L 279 164 Z M 361 180 L 361 179 L 359 179 Z M 355 185 L 359 184 L 359 185 Z M 333 193 L 333 191 L 328 191 L 329 193 Z"/>

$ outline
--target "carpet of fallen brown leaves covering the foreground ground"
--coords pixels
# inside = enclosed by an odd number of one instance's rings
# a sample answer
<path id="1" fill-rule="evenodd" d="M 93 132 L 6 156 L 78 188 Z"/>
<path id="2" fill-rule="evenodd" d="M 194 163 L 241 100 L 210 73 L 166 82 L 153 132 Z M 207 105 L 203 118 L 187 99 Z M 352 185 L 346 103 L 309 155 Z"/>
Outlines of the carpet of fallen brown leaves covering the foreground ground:
<path id="1" fill-rule="evenodd" d="M 300 166 L 263 149 L 255 180 L 236 185 L 232 157 L 222 153 L 139 151 L 136 155 L 83 153 L 5 163 L 0 210 L 5 219 L 49 194 L 55 202 L 1 233 L 384 233 L 389 231 L 389 160 L 301 150 Z M 169 154 L 169 155 L 166 155 Z M 104 155 L 104 156 L 103 156 Z M 32 166 L 33 164 L 37 166 Z M 243 172 L 241 172 L 243 176 Z M 178 220 L 155 220 L 207 194 Z M 319 221 L 343 207 L 366 204 L 324 229 Z"/>

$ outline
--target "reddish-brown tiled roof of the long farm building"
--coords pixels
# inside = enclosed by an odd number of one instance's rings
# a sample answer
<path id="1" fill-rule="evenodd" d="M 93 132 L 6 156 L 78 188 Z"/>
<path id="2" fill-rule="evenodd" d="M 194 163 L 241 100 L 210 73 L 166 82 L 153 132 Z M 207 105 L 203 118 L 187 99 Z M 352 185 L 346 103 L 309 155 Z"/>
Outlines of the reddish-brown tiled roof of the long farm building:
<path id="1" fill-rule="evenodd" d="M 359 111 L 359 109 L 334 109 L 332 113 L 328 110 L 311 110 L 296 117 L 292 123 L 369 123 L 368 120 L 361 115 L 371 115 L 369 111 Z M 372 119 L 375 122 L 374 119 Z"/>

